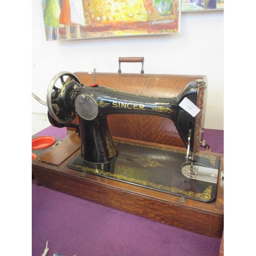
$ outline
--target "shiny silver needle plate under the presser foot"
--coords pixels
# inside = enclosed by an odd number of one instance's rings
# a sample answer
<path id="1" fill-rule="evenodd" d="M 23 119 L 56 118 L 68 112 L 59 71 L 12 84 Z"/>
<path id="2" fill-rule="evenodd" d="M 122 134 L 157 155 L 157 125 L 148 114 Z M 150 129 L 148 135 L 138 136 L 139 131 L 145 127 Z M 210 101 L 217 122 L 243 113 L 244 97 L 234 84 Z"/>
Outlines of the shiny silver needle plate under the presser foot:
<path id="1" fill-rule="evenodd" d="M 191 165 L 188 164 L 181 168 L 181 172 L 189 179 L 201 180 L 215 184 L 218 182 L 218 169 L 215 168 L 194 164 L 193 170 L 191 170 Z"/>

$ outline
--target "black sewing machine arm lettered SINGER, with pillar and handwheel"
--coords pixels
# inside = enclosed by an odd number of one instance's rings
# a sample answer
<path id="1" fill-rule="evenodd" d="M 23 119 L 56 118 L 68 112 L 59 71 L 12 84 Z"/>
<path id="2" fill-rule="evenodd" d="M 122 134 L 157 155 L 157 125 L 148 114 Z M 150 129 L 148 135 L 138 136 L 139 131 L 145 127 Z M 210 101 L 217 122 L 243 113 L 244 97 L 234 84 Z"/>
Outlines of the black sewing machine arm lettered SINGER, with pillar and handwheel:
<path id="1" fill-rule="evenodd" d="M 54 77 L 48 89 L 49 120 L 54 126 L 76 127 L 72 120 L 78 115 L 81 138 L 81 156 L 89 162 L 112 161 L 118 151 L 112 140 L 106 117 L 110 114 L 157 115 L 172 120 L 187 147 L 187 160 L 194 160 L 201 139 L 201 127 L 197 116 L 191 115 L 181 102 L 186 99 L 191 104 L 203 108 L 201 94 L 204 82 L 194 81 L 173 98 L 147 97 L 121 92 L 108 87 L 92 84 L 83 86 L 72 74 L 66 82 L 67 72 Z M 55 82 L 60 78 L 62 87 L 56 89 Z"/>

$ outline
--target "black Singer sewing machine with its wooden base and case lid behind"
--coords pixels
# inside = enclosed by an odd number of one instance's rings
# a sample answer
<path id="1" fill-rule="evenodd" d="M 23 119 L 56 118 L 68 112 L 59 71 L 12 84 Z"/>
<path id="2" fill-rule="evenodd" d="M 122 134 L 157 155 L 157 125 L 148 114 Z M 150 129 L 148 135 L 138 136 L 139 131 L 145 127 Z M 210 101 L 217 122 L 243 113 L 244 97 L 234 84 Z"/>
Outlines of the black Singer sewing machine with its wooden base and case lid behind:
<path id="1" fill-rule="evenodd" d="M 35 180 L 221 237 L 223 156 L 200 151 L 206 77 L 141 73 L 122 74 L 119 64 L 115 82 L 108 73 L 98 73 L 95 79 L 95 71 L 54 76 L 47 91 L 48 117 L 52 125 L 68 127 L 69 134 L 32 161 Z M 156 90 L 155 82 L 147 84 L 164 79 L 174 86 L 165 81 Z"/>

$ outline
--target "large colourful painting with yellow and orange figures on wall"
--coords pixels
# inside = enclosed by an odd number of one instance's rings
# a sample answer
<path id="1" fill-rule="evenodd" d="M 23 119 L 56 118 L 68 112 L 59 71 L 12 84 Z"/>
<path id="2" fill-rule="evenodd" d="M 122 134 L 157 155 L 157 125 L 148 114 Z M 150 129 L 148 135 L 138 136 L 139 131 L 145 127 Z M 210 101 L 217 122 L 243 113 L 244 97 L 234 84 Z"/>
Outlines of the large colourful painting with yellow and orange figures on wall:
<path id="1" fill-rule="evenodd" d="M 47 40 L 178 33 L 180 0 L 41 0 Z"/>

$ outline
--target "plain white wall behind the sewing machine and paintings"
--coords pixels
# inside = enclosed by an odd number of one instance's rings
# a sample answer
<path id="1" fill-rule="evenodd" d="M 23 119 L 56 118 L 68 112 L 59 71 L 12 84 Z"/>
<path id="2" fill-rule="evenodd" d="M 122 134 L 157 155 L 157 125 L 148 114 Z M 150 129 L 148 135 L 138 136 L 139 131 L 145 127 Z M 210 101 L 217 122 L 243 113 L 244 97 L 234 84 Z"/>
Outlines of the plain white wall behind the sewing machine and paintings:
<path id="1" fill-rule="evenodd" d="M 223 130 L 223 11 L 182 13 L 179 34 L 46 41 L 40 1 L 32 10 L 32 92 L 42 100 L 61 71 L 115 73 L 118 57 L 138 56 L 145 73 L 206 75 L 205 128 Z M 139 71 L 139 63 L 122 65 L 122 72 Z M 46 114 L 47 106 L 32 98 L 32 113 Z"/>

